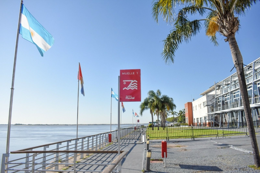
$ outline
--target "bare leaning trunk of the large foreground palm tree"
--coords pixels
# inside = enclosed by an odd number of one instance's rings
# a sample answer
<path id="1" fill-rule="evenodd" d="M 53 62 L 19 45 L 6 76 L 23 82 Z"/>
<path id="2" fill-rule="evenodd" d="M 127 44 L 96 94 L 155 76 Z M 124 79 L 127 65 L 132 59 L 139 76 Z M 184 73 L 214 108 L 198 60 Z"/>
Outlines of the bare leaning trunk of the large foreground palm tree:
<path id="1" fill-rule="evenodd" d="M 228 42 L 229 42 L 229 47 L 231 50 L 232 59 L 233 59 L 235 68 L 237 69 L 237 77 L 238 77 L 240 92 L 241 92 L 242 101 L 243 101 L 243 105 L 244 105 L 244 112 L 246 115 L 246 123 L 248 125 L 248 133 L 250 135 L 254 162 L 255 162 L 255 166 L 258 168 L 260 166 L 260 155 L 259 155 L 259 150 L 258 150 L 258 146 L 257 146 L 257 139 L 255 136 L 253 119 L 251 116 L 250 103 L 249 103 L 249 99 L 248 99 L 246 78 L 245 78 L 244 66 L 243 66 L 243 58 L 242 58 L 242 54 L 238 48 L 237 41 L 235 39 L 234 34 L 231 34 L 228 36 Z"/>

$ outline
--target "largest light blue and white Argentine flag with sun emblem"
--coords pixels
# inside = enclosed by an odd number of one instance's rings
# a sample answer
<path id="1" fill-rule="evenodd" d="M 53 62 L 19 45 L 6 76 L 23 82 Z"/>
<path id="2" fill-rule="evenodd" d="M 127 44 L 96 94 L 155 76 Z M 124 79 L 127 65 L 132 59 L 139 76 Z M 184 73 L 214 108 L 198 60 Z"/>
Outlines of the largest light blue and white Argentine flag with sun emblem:
<path id="1" fill-rule="evenodd" d="M 36 45 L 42 57 L 43 53 L 54 44 L 52 35 L 44 29 L 23 4 L 19 33 L 25 40 Z"/>

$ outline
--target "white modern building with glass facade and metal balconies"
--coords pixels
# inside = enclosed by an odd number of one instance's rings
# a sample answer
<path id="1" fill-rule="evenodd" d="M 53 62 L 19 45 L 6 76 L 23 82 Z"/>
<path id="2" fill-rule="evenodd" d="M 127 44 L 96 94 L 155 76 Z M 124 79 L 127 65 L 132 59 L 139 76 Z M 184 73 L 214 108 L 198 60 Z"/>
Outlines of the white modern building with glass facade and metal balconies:
<path id="1" fill-rule="evenodd" d="M 260 58 L 244 65 L 248 97 L 253 121 L 259 121 L 260 109 Z M 223 125 L 234 123 L 238 127 L 246 123 L 240 95 L 237 72 L 215 83 L 192 102 L 194 125 Z"/>

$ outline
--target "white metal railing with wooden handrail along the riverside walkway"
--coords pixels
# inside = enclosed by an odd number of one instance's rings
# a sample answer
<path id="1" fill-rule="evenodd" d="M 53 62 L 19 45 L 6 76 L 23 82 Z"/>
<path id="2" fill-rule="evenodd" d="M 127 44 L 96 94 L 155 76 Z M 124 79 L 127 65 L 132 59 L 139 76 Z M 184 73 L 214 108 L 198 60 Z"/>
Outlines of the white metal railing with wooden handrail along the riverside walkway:
<path id="1" fill-rule="evenodd" d="M 137 127 L 121 127 L 122 129 L 120 128 L 120 136 L 131 136 L 129 133 L 133 133 L 135 131 L 140 132 L 140 127 L 142 126 L 140 125 Z M 129 128 L 129 130 L 127 130 L 127 128 Z M 71 168 L 73 168 L 73 171 L 76 172 L 102 172 L 96 170 L 81 171 L 76 170 L 76 167 L 82 164 L 108 166 L 111 163 L 77 163 L 77 160 L 89 157 L 90 153 L 108 152 L 98 150 L 110 144 L 109 134 L 111 134 L 111 142 L 117 142 L 117 130 L 115 130 L 92 136 L 25 148 L 22 150 L 10 152 L 10 154 L 3 154 L 1 173 L 15 173 L 21 171 L 23 171 L 24 173 L 34 173 L 35 171 L 42 173 L 45 173 L 46 171 L 71 172 Z M 117 153 L 118 151 L 111 152 Z M 8 162 L 5 162 L 6 159 L 8 159 Z M 115 166 L 116 167 L 113 167 L 113 169 L 117 169 L 118 165 Z M 66 169 L 69 169 L 64 170 L 64 167 Z"/>

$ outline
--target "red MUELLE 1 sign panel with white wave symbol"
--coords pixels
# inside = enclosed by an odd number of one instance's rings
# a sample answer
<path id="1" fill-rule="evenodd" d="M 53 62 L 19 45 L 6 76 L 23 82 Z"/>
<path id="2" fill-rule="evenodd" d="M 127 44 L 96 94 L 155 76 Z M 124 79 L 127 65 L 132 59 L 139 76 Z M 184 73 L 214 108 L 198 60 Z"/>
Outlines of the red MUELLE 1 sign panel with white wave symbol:
<path id="1" fill-rule="evenodd" d="M 120 101 L 141 101 L 141 70 L 120 70 Z"/>

